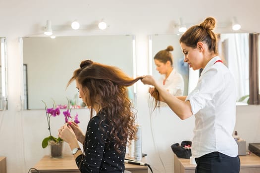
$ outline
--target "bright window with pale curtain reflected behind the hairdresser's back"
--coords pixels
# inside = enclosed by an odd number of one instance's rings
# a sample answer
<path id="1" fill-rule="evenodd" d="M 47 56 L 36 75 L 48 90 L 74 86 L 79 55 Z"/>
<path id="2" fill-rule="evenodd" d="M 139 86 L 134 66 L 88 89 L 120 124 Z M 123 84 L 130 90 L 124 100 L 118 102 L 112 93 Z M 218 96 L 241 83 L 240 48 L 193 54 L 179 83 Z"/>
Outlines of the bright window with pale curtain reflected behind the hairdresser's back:
<path id="1" fill-rule="evenodd" d="M 249 98 L 249 34 L 219 34 L 218 52 L 234 76 L 237 105 L 247 105 Z"/>

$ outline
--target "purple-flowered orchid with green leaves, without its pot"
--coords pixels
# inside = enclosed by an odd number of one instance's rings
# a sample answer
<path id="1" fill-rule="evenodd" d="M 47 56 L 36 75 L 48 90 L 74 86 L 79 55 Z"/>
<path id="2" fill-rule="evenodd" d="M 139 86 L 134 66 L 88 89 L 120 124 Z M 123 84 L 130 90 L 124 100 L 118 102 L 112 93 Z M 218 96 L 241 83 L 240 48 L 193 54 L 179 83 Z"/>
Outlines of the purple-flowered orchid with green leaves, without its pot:
<path id="1" fill-rule="evenodd" d="M 68 100 L 68 98 L 67 98 L 67 100 Z M 76 124 L 80 123 L 80 121 L 78 119 L 78 114 L 76 114 L 75 116 L 71 116 L 71 114 L 70 114 L 71 108 L 70 108 L 69 100 L 68 100 L 68 106 L 67 105 L 57 105 L 56 106 L 55 101 L 53 100 L 54 105 L 52 108 L 48 108 L 47 104 L 43 100 L 42 100 L 42 102 L 45 104 L 45 112 L 46 112 L 46 117 L 47 117 L 48 130 L 50 133 L 50 136 L 44 138 L 42 141 L 42 147 L 46 148 L 48 146 L 49 141 L 52 141 L 54 143 L 59 143 L 59 142 L 63 141 L 60 137 L 56 138 L 56 137 L 52 136 L 51 124 L 50 124 L 50 118 L 59 116 L 60 109 L 67 109 L 66 111 L 62 112 L 64 115 L 64 118 L 65 118 L 65 123 L 68 123 L 69 119 L 70 119 L 70 121 L 73 121 L 73 119 L 74 119 L 74 122 Z"/>

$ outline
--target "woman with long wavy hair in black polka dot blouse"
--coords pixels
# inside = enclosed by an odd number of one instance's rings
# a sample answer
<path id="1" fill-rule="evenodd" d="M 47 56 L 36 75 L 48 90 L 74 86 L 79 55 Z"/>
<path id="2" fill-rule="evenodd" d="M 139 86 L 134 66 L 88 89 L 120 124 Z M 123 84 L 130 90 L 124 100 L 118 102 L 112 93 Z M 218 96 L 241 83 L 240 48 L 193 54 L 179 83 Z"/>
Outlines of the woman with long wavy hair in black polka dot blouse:
<path id="1" fill-rule="evenodd" d="M 81 173 L 124 172 L 126 143 L 136 133 L 127 87 L 140 79 L 91 60 L 82 61 L 74 71 L 68 85 L 76 81 L 79 97 L 90 109 L 91 119 L 86 134 L 69 122 L 58 130 L 58 136 L 69 144 Z"/>

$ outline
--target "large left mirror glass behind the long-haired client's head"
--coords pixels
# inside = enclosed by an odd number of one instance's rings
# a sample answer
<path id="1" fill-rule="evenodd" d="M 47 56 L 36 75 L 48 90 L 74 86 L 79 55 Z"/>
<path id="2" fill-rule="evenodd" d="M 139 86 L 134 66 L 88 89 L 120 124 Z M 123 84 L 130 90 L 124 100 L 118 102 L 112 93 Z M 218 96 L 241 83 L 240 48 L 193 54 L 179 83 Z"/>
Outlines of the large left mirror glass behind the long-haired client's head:
<path id="1" fill-rule="evenodd" d="M 23 38 L 24 109 L 43 109 L 41 100 L 49 107 L 53 100 L 56 105 L 65 105 L 66 97 L 74 107 L 84 106 L 75 82 L 68 88 L 66 85 L 86 59 L 116 66 L 133 77 L 133 36 Z M 133 93 L 133 87 L 129 87 L 129 93 Z"/>

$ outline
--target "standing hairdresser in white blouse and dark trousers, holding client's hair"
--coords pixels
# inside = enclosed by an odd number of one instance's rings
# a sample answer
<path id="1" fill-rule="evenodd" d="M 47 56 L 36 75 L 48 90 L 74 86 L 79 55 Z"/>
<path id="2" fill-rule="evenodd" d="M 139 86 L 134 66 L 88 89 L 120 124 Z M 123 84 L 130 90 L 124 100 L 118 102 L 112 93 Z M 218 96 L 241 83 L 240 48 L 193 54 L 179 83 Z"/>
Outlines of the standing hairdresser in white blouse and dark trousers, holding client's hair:
<path id="1" fill-rule="evenodd" d="M 192 156 L 197 163 L 196 173 L 239 173 L 238 145 L 232 137 L 236 87 L 229 69 L 217 56 L 212 32 L 215 23 L 208 17 L 180 38 L 184 62 L 193 70 L 203 68 L 197 87 L 188 96 L 169 94 L 152 76 L 145 76 L 142 82 L 153 85 L 156 89 L 150 90 L 151 95 L 166 102 L 180 119 L 195 116 Z"/>

